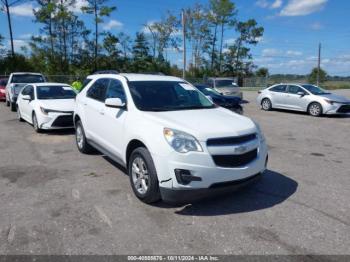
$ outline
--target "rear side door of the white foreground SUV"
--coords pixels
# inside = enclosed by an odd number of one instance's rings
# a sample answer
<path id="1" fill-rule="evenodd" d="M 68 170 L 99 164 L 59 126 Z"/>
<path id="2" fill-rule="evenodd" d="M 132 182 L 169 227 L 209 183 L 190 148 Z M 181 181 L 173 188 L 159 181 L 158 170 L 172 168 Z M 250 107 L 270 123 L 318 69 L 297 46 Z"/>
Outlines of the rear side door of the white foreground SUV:
<path id="1" fill-rule="evenodd" d="M 109 84 L 108 78 L 100 78 L 96 80 L 86 92 L 85 105 L 85 132 L 88 133 L 94 142 L 103 143 L 104 123 L 104 108 L 106 91 Z"/>

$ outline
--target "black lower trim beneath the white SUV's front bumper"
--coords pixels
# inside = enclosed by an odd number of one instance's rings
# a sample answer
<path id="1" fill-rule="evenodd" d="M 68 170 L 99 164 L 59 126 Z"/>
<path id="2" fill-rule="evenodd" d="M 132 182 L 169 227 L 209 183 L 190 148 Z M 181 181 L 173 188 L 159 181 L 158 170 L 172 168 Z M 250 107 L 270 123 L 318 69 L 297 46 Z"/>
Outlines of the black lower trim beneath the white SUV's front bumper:
<path id="1" fill-rule="evenodd" d="M 261 173 L 250 176 L 248 178 L 228 181 L 222 183 L 215 183 L 209 188 L 199 189 L 169 189 L 160 187 L 160 194 L 164 202 L 169 203 L 191 203 L 202 200 L 207 197 L 221 195 L 235 191 L 241 187 L 254 183 L 261 177 Z"/>

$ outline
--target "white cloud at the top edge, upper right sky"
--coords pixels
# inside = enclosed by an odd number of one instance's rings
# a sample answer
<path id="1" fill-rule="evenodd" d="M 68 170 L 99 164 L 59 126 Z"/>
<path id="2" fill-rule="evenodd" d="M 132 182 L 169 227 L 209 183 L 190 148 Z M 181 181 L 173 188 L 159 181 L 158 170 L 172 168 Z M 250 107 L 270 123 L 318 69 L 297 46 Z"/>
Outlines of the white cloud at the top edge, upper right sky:
<path id="1" fill-rule="evenodd" d="M 328 0 L 289 0 L 280 16 L 303 16 L 320 11 Z"/>

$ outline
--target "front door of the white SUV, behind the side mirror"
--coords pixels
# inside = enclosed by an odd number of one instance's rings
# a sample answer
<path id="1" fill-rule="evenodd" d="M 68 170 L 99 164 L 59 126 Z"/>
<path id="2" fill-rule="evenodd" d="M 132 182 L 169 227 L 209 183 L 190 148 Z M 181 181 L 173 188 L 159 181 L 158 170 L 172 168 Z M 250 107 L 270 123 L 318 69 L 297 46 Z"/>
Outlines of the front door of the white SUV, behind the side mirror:
<path id="1" fill-rule="evenodd" d="M 106 93 L 107 98 L 119 98 L 127 105 L 123 84 L 117 79 L 111 79 Z M 121 108 L 105 106 L 104 122 L 108 127 L 104 130 L 104 147 L 113 155 L 123 159 L 124 122 L 128 111 Z"/>

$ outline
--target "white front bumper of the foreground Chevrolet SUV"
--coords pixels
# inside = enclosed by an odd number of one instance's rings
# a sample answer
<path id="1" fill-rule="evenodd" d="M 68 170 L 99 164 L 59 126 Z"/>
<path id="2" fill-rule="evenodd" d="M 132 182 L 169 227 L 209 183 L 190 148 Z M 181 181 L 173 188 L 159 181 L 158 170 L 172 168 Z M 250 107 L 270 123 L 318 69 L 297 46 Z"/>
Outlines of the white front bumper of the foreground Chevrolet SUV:
<path id="1" fill-rule="evenodd" d="M 267 145 L 265 142 L 259 141 L 257 157 L 254 160 L 239 167 L 217 166 L 212 157 L 213 149 L 208 149 L 204 144 L 202 144 L 202 148 L 204 152 L 189 152 L 186 154 L 173 152 L 168 156 L 152 154 L 158 174 L 159 187 L 163 192 L 162 197 L 164 195 L 163 199 L 170 199 L 173 195 L 181 195 L 182 193 L 186 195 L 183 196 L 185 199 L 187 197 L 193 198 L 192 194 L 199 195 L 199 198 L 201 198 L 202 195 L 207 193 L 216 193 L 216 190 L 213 189 L 218 184 L 235 184 L 235 187 L 236 183 L 244 185 L 243 182 L 266 170 Z M 208 150 L 211 150 L 211 153 Z M 230 151 L 231 148 L 226 147 L 225 150 Z M 175 175 L 176 169 L 188 170 L 192 176 L 200 179 L 185 185 L 179 183 Z M 222 190 L 218 189 L 218 191 Z M 228 190 L 232 190 L 232 188 L 228 187 Z M 193 193 L 190 193 L 191 191 Z"/>

